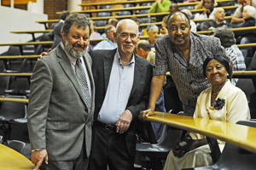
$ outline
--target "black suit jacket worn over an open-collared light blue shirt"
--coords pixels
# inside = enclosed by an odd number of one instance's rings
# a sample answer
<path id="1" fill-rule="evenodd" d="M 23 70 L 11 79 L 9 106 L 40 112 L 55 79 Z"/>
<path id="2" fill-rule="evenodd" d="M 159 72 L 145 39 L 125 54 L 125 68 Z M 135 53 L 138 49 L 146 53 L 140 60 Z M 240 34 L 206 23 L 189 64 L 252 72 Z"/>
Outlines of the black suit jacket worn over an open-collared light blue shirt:
<path id="1" fill-rule="evenodd" d="M 92 50 L 92 74 L 96 84 L 96 108 L 94 119 L 97 119 L 99 111 L 107 93 L 109 77 L 113 64 L 113 57 L 117 49 L 113 50 Z M 135 55 L 134 81 L 131 95 L 126 109 L 132 113 L 132 121 L 129 129 L 125 132 L 125 141 L 131 156 L 136 153 L 136 129 L 135 122 L 140 111 L 148 108 L 148 99 L 152 79 L 153 65 L 147 60 Z"/>

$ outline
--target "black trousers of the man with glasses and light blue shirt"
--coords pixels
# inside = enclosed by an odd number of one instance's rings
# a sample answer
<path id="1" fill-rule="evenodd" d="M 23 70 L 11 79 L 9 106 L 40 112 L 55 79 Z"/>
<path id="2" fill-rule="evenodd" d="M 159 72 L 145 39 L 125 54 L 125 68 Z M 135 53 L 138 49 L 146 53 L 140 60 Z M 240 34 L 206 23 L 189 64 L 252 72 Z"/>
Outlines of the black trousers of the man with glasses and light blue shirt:
<path id="1" fill-rule="evenodd" d="M 134 159 L 126 147 L 125 133 L 94 125 L 89 170 L 132 170 Z"/>

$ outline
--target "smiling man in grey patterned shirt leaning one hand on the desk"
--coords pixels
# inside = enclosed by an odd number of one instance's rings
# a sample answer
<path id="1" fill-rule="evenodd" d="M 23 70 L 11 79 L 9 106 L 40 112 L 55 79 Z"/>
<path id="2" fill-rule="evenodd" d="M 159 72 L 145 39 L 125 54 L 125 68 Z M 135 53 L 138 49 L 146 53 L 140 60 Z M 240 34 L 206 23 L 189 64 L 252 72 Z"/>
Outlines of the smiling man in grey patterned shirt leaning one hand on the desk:
<path id="1" fill-rule="evenodd" d="M 211 86 L 203 76 L 203 62 L 211 54 L 224 53 L 218 38 L 190 31 L 187 14 L 172 13 L 167 23 L 169 34 L 158 38 L 154 44 L 155 67 L 148 110 L 140 113 L 140 119 L 154 115 L 154 105 L 167 71 L 170 71 L 183 102 L 184 115 L 193 116 L 197 97 Z"/>

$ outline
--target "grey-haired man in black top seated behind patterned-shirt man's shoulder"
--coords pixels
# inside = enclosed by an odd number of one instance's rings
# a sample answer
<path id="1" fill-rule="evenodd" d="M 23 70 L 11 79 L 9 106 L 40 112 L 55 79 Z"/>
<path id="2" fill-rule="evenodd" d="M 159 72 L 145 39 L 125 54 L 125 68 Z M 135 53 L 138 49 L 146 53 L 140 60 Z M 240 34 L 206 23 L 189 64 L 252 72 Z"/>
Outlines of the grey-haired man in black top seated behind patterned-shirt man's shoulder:
<path id="1" fill-rule="evenodd" d="M 214 19 L 207 20 L 201 23 L 201 31 L 208 31 L 208 30 L 216 30 L 218 27 L 228 26 L 231 27 L 230 24 L 226 23 L 224 20 L 225 11 L 224 8 L 216 8 L 213 11 Z"/>

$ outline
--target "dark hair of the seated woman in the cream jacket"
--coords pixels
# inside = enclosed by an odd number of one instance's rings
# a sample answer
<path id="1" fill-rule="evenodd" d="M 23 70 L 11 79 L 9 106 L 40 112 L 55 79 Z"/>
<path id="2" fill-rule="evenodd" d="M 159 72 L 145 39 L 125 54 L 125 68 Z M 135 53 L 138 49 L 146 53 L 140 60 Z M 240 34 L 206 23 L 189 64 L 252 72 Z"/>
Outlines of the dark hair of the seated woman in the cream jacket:
<path id="1" fill-rule="evenodd" d="M 207 57 L 207 59 L 204 61 L 204 64 L 203 64 L 203 75 L 204 75 L 204 77 L 207 77 L 207 71 L 206 71 L 207 70 L 207 65 L 212 59 L 215 59 L 219 63 L 224 65 L 226 71 L 229 72 L 230 71 L 230 62 L 226 57 L 227 56 L 223 56 L 223 55 L 212 55 L 212 56 Z"/>

